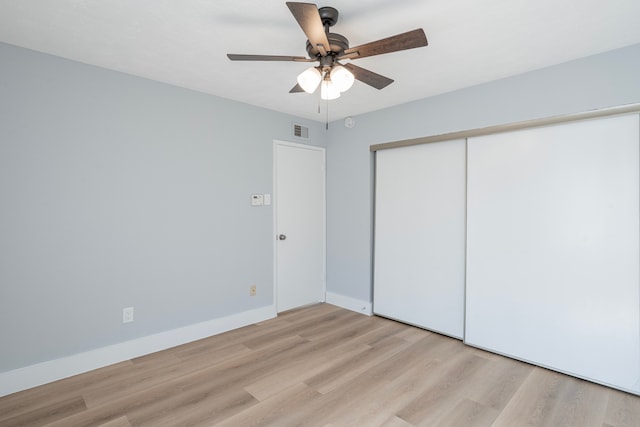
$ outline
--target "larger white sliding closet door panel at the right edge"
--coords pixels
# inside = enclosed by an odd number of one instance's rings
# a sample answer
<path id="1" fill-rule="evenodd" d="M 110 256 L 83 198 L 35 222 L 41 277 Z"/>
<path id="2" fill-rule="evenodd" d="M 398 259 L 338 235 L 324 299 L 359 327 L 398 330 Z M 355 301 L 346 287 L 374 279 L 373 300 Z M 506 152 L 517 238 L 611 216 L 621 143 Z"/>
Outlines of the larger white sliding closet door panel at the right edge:
<path id="1" fill-rule="evenodd" d="M 466 343 L 638 390 L 638 128 L 469 139 Z"/>

